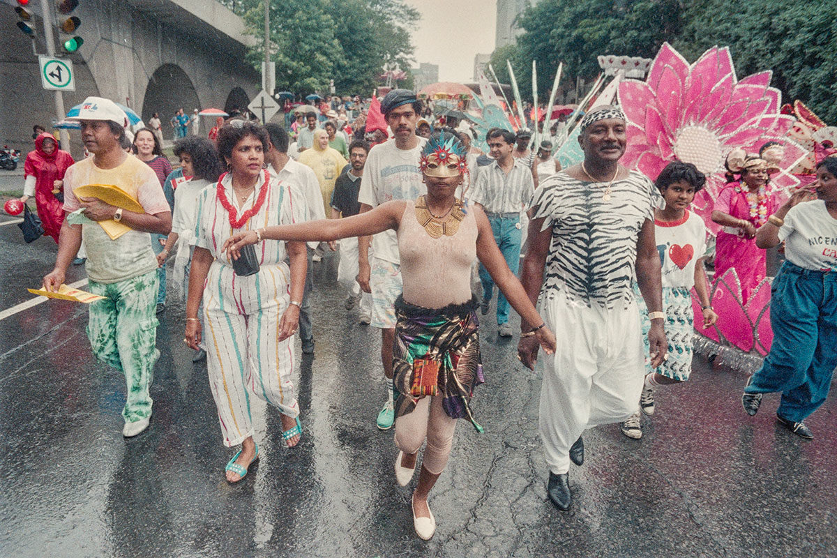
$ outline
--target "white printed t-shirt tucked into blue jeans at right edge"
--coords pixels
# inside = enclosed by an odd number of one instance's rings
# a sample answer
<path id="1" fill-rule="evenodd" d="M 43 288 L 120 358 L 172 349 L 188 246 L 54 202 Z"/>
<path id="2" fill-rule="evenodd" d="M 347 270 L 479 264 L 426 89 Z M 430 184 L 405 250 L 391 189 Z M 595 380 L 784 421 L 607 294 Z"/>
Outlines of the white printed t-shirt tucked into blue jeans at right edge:
<path id="1" fill-rule="evenodd" d="M 779 228 L 785 258 L 804 269 L 837 271 L 837 219 L 823 200 L 791 207 Z"/>

